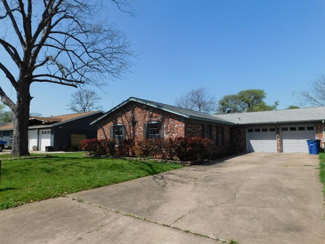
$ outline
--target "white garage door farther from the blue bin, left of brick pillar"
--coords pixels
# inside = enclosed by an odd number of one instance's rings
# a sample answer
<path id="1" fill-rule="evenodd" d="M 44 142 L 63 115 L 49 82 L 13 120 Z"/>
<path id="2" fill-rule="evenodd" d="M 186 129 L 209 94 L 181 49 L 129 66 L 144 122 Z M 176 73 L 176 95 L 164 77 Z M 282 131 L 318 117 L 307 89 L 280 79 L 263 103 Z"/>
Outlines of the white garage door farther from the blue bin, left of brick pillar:
<path id="1" fill-rule="evenodd" d="M 275 128 L 253 128 L 247 130 L 247 151 L 276 152 Z"/>

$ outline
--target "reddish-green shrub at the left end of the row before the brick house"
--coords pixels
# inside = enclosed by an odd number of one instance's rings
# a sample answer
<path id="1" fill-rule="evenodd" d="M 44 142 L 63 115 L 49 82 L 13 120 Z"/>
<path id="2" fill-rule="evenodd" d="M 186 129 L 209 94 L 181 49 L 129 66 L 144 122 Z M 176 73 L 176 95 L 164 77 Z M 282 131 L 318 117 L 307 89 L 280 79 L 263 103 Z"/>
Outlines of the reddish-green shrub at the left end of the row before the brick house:
<path id="1" fill-rule="evenodd" d="M 81 140 L 80 146 L 90 154 L 97 155 L 115 155 L 114 139 L 85 139 Z"/>

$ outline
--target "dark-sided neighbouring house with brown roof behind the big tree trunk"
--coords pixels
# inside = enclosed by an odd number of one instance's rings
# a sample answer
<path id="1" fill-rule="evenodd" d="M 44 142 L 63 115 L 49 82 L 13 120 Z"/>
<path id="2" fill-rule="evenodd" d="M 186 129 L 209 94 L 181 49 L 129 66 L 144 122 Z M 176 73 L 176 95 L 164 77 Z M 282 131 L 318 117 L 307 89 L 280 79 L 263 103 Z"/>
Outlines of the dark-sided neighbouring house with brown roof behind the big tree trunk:
<path id="1" fill-rule="evenodd" d="M 64 150 L 78 147 L 82 139 L 96 138 L 96 126 L 89 123 L 103 115 L 103 111 L 65 114 L 51 117 L 30 117 L 28 127 L 28 149 L 37 146 L 38 150 Z M 13 124 L 0 127 L 0 140 L 12 144 Z"/>

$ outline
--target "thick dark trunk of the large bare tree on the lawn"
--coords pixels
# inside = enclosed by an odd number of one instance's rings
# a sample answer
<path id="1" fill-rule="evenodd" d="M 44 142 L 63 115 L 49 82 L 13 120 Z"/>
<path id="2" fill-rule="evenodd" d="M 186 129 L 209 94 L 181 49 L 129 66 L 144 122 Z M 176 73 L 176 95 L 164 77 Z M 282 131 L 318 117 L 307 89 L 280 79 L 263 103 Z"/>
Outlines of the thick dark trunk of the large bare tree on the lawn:
<path id="1" fill-rule="evenodd" d="M 28 121 L 29 121 L 29 94 L 30 83 L 28 81 L 20 81 L 17 89 L 17 103 L 14 117 L 14 132 L 12 143 L 12 156 L 29 155 L 28 151 Z"/>

